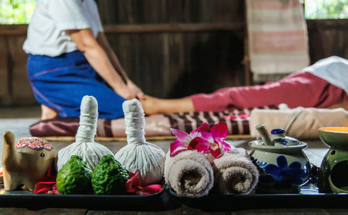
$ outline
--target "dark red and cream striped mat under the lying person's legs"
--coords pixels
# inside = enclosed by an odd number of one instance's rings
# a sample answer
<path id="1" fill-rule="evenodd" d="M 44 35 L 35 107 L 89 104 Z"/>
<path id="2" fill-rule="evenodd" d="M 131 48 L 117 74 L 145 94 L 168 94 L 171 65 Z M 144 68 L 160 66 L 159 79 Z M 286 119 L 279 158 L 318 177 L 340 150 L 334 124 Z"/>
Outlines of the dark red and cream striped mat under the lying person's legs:
<path id="1" fill-rule="evenodd" d="M 277 109 L 276 106 L 262 106 L 254 109 Z M 249 120 L 253 109 L 222 111 L 222 112 L 192 112 L 172 113 L 170 115 L 157 114 L 145 116 L 145 136 L 171 136 L 171 128 L 191 132 L 204 122 L 210 127 L 217 122 L 226 122 L 228 135 L 250 134 Z M 79 118 L 58 118 L 42 120 L 30 126 L 32 136 L 75 136 L 79 127 Z M 124 138 L 125 120 L 98 119 L 97 136 Z"/>

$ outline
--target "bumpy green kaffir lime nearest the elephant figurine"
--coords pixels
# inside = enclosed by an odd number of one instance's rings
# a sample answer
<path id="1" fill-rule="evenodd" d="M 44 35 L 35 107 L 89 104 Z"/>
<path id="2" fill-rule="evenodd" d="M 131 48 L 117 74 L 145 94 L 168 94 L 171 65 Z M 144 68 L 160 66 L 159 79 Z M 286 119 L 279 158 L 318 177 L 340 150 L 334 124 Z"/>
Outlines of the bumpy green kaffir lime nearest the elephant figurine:
<path id="1" fill-rule="evenodd" d="M 56 186 L 61 194 L 87 194 L 91 191 L 92 170 L 81 156 L 72 155 L 59 170 Z"/>

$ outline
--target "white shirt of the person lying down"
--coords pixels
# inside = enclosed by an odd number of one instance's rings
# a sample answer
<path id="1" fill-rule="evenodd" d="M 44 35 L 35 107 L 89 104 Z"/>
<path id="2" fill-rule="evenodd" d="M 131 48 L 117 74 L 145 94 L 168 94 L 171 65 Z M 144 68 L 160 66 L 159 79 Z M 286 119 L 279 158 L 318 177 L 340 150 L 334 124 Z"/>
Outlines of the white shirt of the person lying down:
<path id="1" fill-rule="evenodd" d="M 324 58 L 303 69 L 322 78 L 348 94 L 348 60 L 338 56 Z"/>

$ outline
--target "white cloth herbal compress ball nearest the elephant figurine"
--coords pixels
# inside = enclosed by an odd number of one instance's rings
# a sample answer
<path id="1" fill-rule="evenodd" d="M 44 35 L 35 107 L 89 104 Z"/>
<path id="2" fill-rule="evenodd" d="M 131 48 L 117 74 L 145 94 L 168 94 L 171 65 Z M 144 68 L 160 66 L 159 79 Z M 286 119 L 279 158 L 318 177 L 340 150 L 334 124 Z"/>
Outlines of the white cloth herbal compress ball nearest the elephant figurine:
<path id="1" fill-rule="evenodd" d="M 77 129 L 75 143 L 59 150 L 58 171 L 70 160 L 72 155 L 79 155 L 92 170 L 104 155 L 113 154 L 108 148 L 94 141 L 97 132 L 98 103 L 93 96 L 85 95 L 81 102 L 80 125 Z"/>

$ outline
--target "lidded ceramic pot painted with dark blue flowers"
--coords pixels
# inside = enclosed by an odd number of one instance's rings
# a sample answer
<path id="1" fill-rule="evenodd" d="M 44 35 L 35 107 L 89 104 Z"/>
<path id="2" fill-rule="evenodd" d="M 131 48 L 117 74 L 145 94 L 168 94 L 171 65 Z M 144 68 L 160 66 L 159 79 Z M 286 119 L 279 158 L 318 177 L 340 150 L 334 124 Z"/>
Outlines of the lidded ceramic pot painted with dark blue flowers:
<path id="1" fill-rule="evenodd" d="M 254 150 L 251 156 L 262 170 L 260 186 L 283 186 L 297 191 L 310 174 L 310 162 L 303 153 L 307 143 L 285 136 L 284 129 L 273 129 L 271 136 L 264 126 L 258 125 L 257 129 L 262 140 L 251 141 L 249 145 Z"/>

